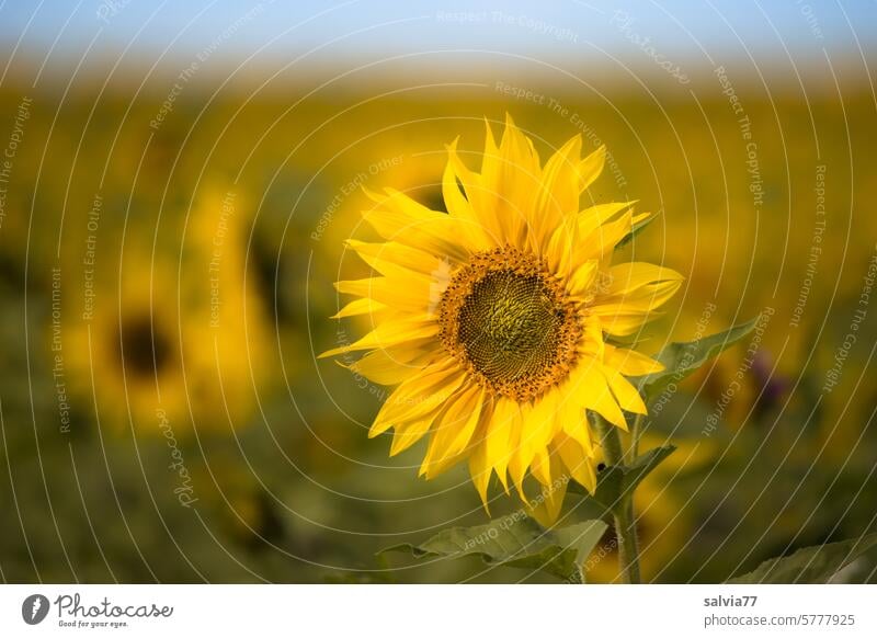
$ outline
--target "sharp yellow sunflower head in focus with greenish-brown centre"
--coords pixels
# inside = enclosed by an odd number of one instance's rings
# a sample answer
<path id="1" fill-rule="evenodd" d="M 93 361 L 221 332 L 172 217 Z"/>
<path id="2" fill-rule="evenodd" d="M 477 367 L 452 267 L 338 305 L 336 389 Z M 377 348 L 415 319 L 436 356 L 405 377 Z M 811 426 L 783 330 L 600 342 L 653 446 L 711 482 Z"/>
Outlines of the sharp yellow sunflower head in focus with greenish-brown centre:
<path id="1" fill-rule="evenodd" d="M 510 116 L 490 125 L 480 173 L 447 147 L 447 213 L 403 193 L 369 193 L 365 220 L 384 239 L 349 240 L 376 275 L 335 284 L 357 299 L 335 317 L 368 315 L 374 329 L 321 356 L 397 386 L 369 437 L 394 430 L 390 455 L 428 438 L 420 475 L 468 462 L 487 508 L 496 475 L 554 521 L 569 480 L 593 491 L 599 441 L 586 411 L 627 429 L 646 406 L 626 378 L 661 365 L 613 338 L 635 335 L 680 287 L 672 270 L 612 265 L 615 247 L 649 214 L 633 202 L 580 208 L 605 148 L 581 159 L 576 136 L 542 166 Z M 531 500 L 524 482 L 540 483 Z"/>

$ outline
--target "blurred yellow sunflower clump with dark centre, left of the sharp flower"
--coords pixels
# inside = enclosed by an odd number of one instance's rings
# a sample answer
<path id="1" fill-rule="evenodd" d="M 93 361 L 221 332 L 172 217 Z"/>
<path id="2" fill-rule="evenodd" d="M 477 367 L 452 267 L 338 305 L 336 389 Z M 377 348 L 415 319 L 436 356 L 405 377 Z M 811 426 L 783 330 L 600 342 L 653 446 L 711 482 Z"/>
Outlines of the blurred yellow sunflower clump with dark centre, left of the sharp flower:
<path id="1" fill-rule="evenodd" d="M 69 323 L 71 383 L 107 430 L 130 419 L 160 433 L 159 410 L 178 434 L 246 424 L 266 369 L 264 311 L 247 285 L 248 210 L 241 195 L 205 189 L 181 254 L 171 242 L 123 251 Z"/>

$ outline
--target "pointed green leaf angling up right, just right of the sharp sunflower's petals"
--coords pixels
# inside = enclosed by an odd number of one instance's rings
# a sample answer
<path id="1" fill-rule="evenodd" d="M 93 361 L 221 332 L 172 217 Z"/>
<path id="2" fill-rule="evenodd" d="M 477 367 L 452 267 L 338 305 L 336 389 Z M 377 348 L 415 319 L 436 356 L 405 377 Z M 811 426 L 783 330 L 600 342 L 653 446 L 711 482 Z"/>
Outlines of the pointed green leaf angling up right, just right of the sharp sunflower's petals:
<path id="1" fill-rule="evenodd" d="M 664 364 L 664 369 L 639 377 L 640 392 L 648 401 L 670 384 L 677 384 L 707 361 L 752 332 L 760 320 L 761 316 L 697 341 L 671 343 L 654 357 Z"/>

